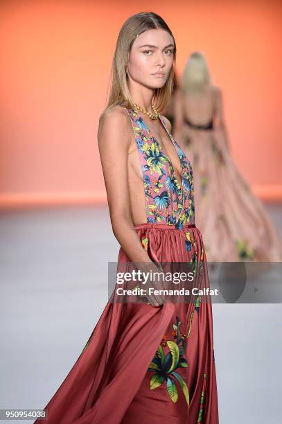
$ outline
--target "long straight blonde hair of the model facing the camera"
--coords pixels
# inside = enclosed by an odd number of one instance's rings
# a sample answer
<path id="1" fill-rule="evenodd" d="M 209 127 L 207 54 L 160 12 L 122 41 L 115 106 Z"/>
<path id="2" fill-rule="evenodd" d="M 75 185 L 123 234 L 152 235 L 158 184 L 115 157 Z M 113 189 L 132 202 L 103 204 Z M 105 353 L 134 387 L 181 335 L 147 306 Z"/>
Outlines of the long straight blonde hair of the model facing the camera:
<path id="1" fill-rule="evenodd" d="M 114 58 L 112 61 L 112 84 L 109 93 L 109 100 L 107 102 L 106 110 L 110 107 L 120 105 L 125 102 L 126 107 L 133 107 L 134 100 L 130 95 L 130 90 L 127 85 L 127 75 L 125 72 L 125 64 L 130 56 L 130 51 L 136 35 L 145 33 L 150 29 L 161 28 L 173 37 L 168 25 L 159 15 L 153 12 L 140 12 L 136 15 L 129 17 L 121 27 L 116 42 L 116 48 L 114 51 Z M 175 39 L 173 37 L 175 44 Z M 164 87 L 155 89 L 153 96 L 153 103 L 159 111 L 166 108 L 166 105 L 170 102 L 171 94 L 173 91 L 173 80 L 175 73 L 175 55 L 176 55 L 176 44 L 173 53 L 173 67 L 170 69 L 170 74 L 166 80 Z"/>

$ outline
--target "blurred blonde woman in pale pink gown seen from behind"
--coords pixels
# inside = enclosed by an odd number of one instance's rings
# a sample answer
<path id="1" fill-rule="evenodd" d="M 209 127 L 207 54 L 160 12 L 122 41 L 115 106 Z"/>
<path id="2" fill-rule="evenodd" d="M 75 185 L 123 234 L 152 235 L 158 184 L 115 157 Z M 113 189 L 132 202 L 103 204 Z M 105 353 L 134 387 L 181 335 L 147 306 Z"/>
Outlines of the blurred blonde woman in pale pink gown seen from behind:
<path id="1" fill-rule="evenodd" d="M 280 262 L 279 235 L 231 157 L 222 94 L 202 53 L 188 58 L 174 105 L 173 135 L 193 166 L 195 222 L 207 260 Z"/>

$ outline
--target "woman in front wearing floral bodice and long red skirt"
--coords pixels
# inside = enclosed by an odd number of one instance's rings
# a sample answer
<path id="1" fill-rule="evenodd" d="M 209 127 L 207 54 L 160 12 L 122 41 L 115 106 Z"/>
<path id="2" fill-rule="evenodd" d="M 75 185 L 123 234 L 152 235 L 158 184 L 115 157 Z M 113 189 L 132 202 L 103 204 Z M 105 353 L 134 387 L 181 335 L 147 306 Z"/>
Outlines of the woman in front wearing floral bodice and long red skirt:
<path id="1" fill-rule="evenodd" d="M 125 21 L 98 146 L 121 245 L 118 273 L 130 264 L 159 270 L 161 263 L 191 261 L 197 288 L 209 288 L 191 166 L 158 112 L 170 98 L 175 53 L 173 34 L 155 13 Z M 178 303 L 158 293 L 139 302 L 118 296 L 114 290 L 46 406 L 47 423 L 218 424 L 211 303 L 197 294 Z"/>

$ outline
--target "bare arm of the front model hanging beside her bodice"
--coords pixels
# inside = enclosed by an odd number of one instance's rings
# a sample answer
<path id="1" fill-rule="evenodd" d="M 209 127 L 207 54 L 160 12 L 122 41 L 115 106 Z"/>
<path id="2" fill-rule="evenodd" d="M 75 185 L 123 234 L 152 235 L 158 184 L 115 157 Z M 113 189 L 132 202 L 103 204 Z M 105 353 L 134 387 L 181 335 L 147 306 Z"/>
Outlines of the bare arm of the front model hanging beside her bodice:
<path id="1" fill-rule="evenodd" d="M 129 117 L 125 113 L 121 107 L 113 107 L 100 116 L 98 126 L 98 147 L 109 215 L 114 236 L 128 258 L 140 270 L 156 272 L 159 268 L 143 248 L 130 213 L 127 160 L 133 133 Z M 159 306 L 162 303 L 159 296 L 148 297 L 148 299 L 153 306 Z"/>

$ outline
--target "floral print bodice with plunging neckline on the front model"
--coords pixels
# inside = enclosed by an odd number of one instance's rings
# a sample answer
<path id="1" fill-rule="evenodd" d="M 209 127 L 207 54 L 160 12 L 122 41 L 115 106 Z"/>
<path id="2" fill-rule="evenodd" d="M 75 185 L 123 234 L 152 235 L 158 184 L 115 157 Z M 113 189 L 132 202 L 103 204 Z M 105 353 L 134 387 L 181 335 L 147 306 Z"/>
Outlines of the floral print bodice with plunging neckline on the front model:
<path id="1" fill-rule="evenodd" d="M 179 157 L 182 185 L 179 184 L 173 164 L 161 143 L 150 132 L 150 127 L 134 109 L 124 107 L 130 116 L 143 173 L 146 219 L 150 223 L 174 225 L 182 229 L 195 223 L 193 170 L 183 150 L 164 125 Z"/>

